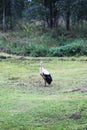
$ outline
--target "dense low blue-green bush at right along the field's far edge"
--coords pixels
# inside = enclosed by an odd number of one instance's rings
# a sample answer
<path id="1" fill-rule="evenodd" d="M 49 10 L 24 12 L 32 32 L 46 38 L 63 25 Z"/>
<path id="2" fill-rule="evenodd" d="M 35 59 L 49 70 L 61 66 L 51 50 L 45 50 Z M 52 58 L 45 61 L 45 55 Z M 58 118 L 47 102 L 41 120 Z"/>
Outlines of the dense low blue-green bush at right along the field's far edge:
<path id="1" fill-rule="evenodd" d="M 75 56 L 75 55 L 87 55 L 87 45 L 83 40 L 72 44 L 67 44 L 60 47 L 52 47 L 49 49 L 51 56 Z"/>

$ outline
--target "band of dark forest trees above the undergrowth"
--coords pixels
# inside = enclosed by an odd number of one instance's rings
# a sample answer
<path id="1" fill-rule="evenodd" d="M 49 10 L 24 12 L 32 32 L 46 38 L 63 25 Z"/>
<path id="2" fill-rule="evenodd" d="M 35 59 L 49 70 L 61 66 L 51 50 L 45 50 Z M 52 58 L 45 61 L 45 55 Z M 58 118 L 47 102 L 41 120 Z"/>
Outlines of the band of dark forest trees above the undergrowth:
<path id="1" fill-rule="evenodd" d="M 73 24 L 87 22 L 87 0 L 1 0 L 0 27 L 13 29 L 18 20 L 43 20 L 45 27 L 58 26 L 60 18 L 70 30 Z"/>

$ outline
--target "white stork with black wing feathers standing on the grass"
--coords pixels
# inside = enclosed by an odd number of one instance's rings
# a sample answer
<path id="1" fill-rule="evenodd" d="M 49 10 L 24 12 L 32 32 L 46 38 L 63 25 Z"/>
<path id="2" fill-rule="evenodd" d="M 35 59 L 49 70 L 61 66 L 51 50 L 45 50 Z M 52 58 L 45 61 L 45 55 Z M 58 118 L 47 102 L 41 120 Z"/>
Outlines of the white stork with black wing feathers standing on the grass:
<path id="1" fill-rule="evenodd" d="M 46 86 L 46 83 L 50 85 L 52 82 L 52 76 L 46 69 L 44 69 L 42 61 L 40 61 L 40 70 L 39 71 L 40 71 L 40 75 L 43 77 L 43 79 L 45 81 L 45 86 Z"/>

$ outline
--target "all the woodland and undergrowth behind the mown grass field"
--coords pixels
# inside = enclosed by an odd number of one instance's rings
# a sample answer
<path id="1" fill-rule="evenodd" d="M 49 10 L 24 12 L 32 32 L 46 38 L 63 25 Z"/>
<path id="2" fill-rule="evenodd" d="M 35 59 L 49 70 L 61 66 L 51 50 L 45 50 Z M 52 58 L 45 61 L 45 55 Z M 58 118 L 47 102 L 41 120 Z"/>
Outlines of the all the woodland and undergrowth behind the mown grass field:
<path id="1" fill-rule="evenodd" d="M 1 51 L 30 56 L 87 55 L 87 0 L 1 0 L 2 30 L 8 31 L 0 33 L 8 43 L 0 43 Z"/>

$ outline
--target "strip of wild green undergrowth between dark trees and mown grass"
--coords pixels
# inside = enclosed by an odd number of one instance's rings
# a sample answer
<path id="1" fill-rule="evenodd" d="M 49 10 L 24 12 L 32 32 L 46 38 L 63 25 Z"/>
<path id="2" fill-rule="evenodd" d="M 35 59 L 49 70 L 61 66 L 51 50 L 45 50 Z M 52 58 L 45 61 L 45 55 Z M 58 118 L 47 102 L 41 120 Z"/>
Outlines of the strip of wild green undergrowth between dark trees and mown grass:
<path id="1" fill-rule="evenodd" d="M 34 27 L 26 29 L 0 36 L 0 51 L 34 57 L 87 55 L 87 38 L 84 33 L 80 35 L 80 32 L 77 34 L 63 29 L 38 31 L 35 28 L 34 31 Z"/>

